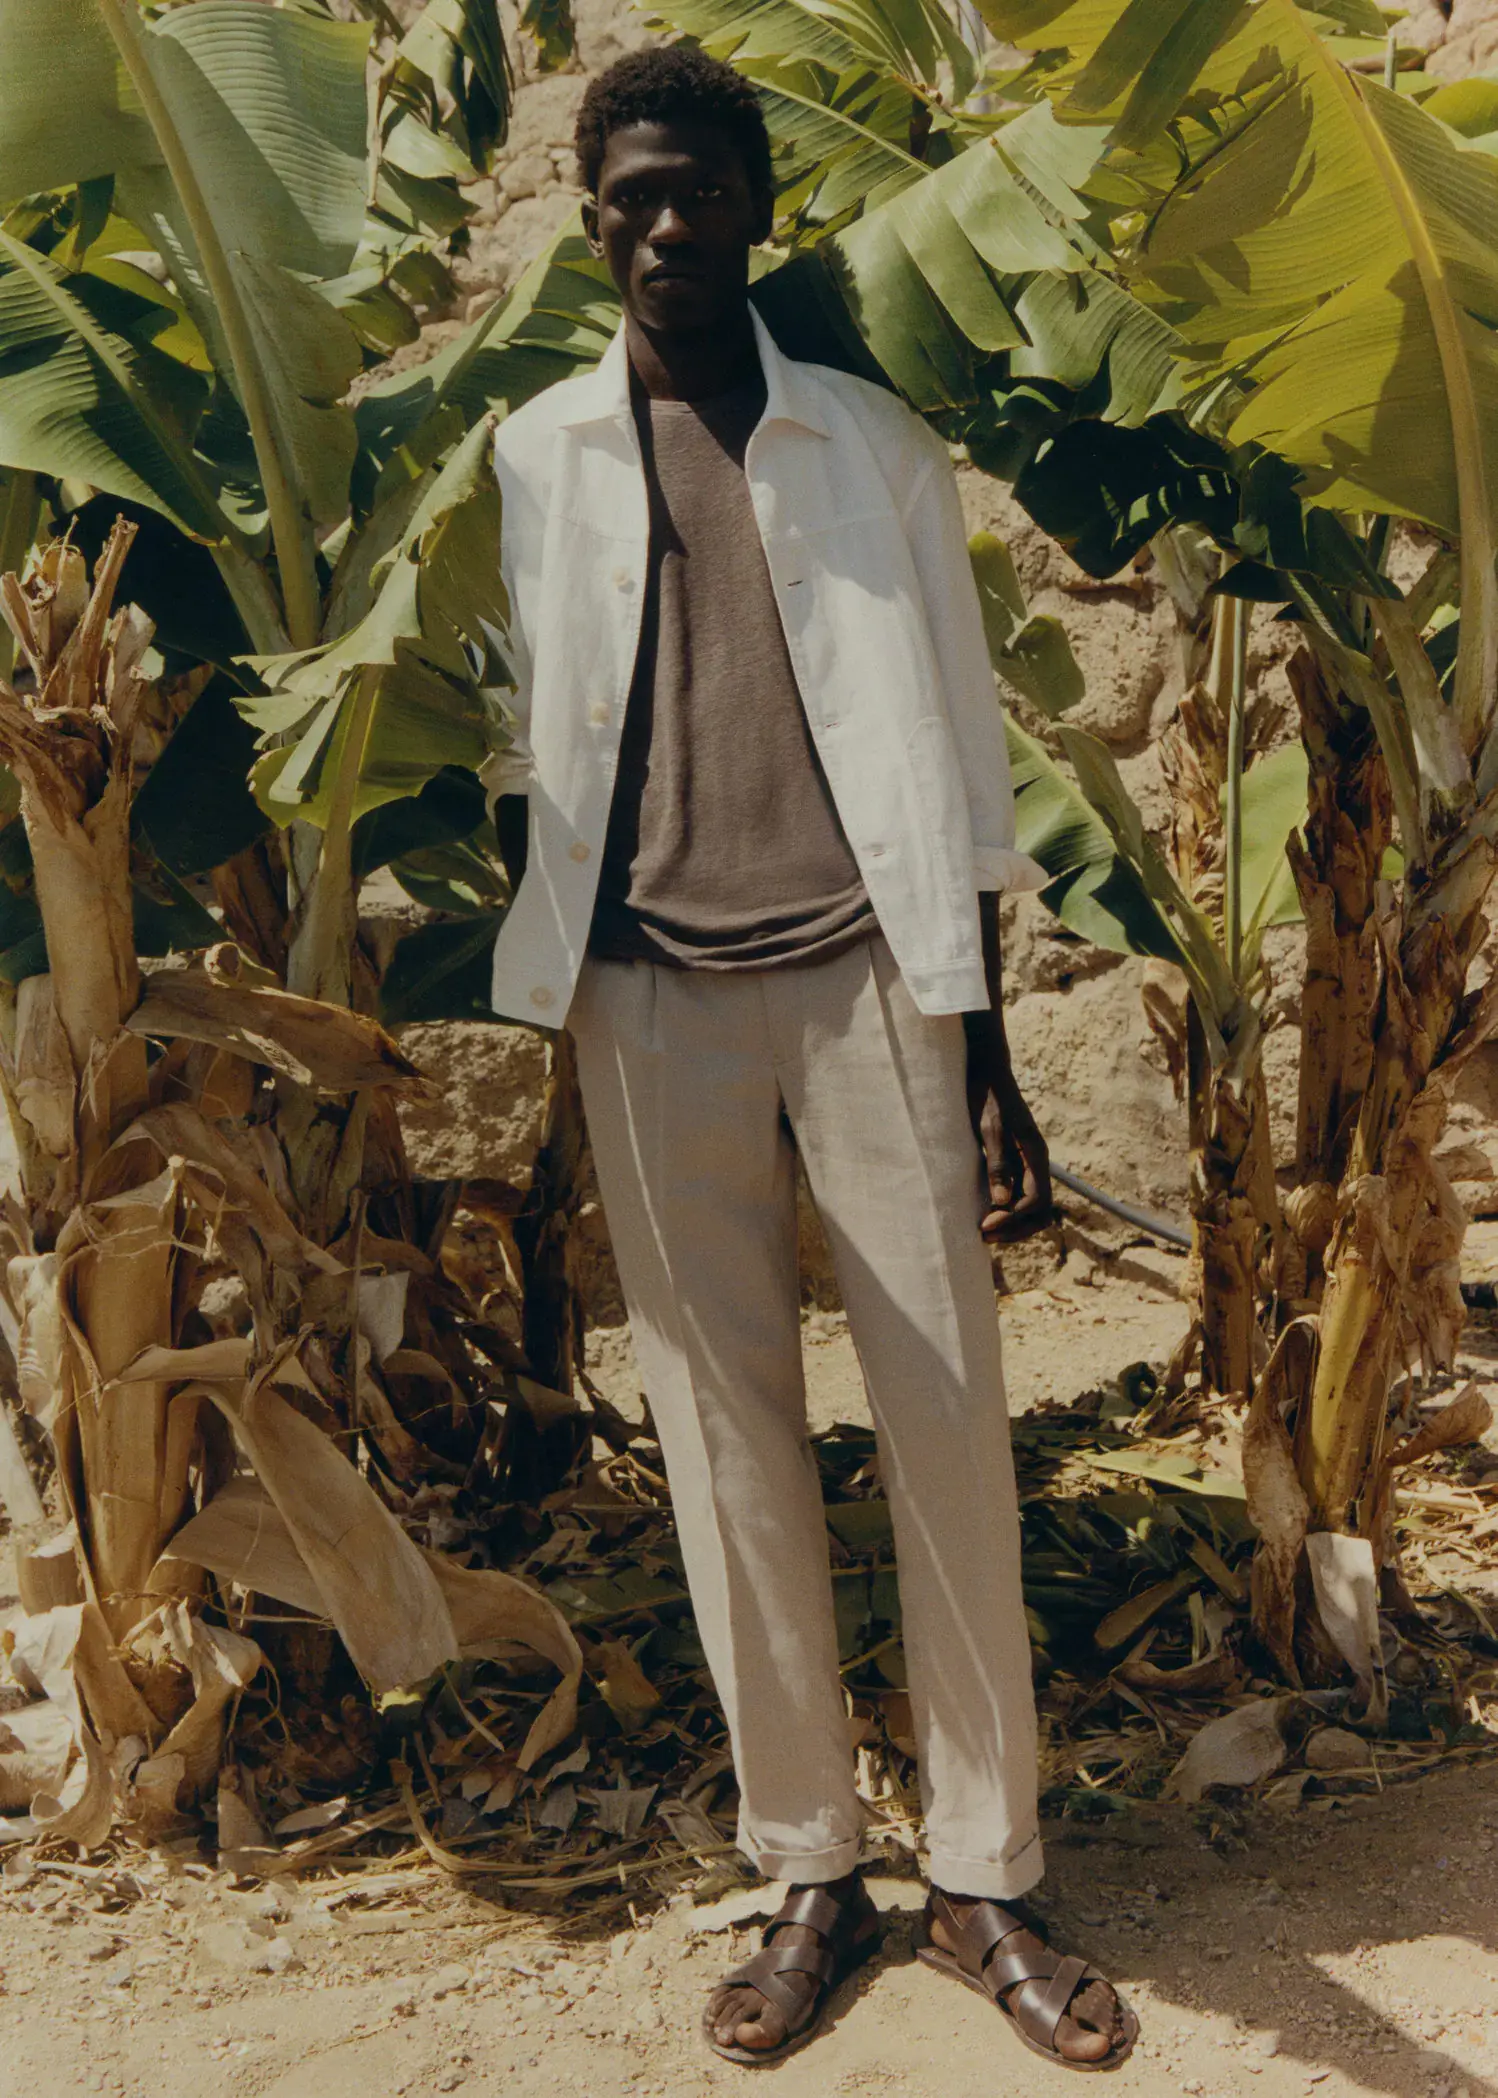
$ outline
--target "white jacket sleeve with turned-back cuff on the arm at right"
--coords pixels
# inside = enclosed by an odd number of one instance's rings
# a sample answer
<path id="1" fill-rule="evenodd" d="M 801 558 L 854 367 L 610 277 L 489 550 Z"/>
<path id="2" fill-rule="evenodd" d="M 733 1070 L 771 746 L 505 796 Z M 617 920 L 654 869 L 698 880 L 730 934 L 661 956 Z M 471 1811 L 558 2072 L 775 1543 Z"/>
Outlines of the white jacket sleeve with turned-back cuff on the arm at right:
<path id="1" fill-rule="evenodd" d="M 946 718 L 967 787 L 973 885 L 1039 890 L 1051 879 L 1015 848 L 1013 780 L 984 615 L 967 560 L 967 527 L 946 447 L 927 432 L 925 464 L 904 512 Z"/>

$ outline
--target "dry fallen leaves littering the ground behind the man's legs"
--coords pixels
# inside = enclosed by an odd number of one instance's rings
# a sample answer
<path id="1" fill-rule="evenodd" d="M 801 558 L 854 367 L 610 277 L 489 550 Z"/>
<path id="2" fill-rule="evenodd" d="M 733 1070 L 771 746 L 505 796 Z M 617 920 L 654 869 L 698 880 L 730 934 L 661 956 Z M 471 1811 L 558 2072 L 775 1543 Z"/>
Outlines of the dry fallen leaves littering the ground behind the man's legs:
<path id="1" fill-rule="evenodd" d="M 380 1699 L 348 1670 L 340 1706 L 311 1720 L 294 1720 L 292 1685 L 262 1672 L 241 1691 L 239 1762 L 218 1798 L 222 1865 L 323 1878 L 342 1899 L 369 1901 L 434 1861 L 506 1909 L 566 1913 L 569 1928 L 745 1880 L 659 1446 L 648 1420 L 629 1427 L 606 1406 L 577 1414 L 577 1460 L 539 1506 L 504 1496 L 504 1469 L 405 1500 L 384 1483 L 394 1519 L 447 1580 L 504 1561 L 566 1618 L 585 1666 L 577 1731 L 525 1767 L 554 1676 L 520 1649 L 468 1655 L 424 1689 Z M 1255 1532 L 1234 1418 L 1217 1410 L 1164 1433 L 1152 1418 L 1152 1380 L 1135 1370 L 1112 1395 L 1015 1422 L 1051 1815 L 1173 1796 L 1198 1806 L 1208 1834 L 1232 1832 L 1246 1787 L 1276 1806 L 1330 1804 L 1498 1748 L 1490 1448 L 1429 1450 L 1395 1496 L 1404 1580 L 1378 1620 L 1387 1697 L 1372 1720 L 1330 1651 L 1324 1683 L 1286 1689 L 1255 1649 Z M 1425 1435 L 1433 1441 L 1439 1433 Z M 885 1869 L 911 1871 L 919 1790 L 875 1439 L 841 1425 L 814 1450 L 866 1846 Z M 302 1639 L 308 1680 L 325 1683 L 331 1632 L 304 1624 Z M 0 1731 L 0 1769 L 4 1743 Z M 176 1848 L 204 1855 L 195 1834 Z M 25 1857 L 48 1863 L 46 1846 Z M 120 1848 L 107 1869 L 134 1865 Z"/>

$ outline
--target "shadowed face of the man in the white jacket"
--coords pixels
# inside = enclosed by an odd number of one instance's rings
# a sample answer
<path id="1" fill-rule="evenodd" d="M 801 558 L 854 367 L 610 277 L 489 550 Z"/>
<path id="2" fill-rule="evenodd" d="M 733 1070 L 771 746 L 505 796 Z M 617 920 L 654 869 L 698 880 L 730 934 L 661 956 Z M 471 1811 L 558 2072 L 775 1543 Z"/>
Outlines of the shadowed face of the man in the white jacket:
<path id="1" fill-rule="evenodd" d="M 629 124 L 608 134 L 583 227 L 625 313 L 650 334 L 697 334 L 743 311 L 770 197 L 713 126 Z"/>

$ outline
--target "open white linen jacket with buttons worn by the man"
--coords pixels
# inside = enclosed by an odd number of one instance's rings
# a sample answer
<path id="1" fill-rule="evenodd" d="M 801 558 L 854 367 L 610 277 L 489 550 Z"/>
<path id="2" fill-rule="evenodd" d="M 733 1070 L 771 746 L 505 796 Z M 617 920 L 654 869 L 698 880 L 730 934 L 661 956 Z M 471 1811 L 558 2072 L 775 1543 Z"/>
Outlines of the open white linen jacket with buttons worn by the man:
<path id="1" fill-rule="evenodd" d="M 988 1005 L 978 890 L 1039 887 L 957 480 L 894 394 L 783 357 L 755 315 L 766 407 L 745 455 L 795 682 L 879 927 L 925 1013 Z M 623 329 L 499 426 L 514 745 L 529 860 L 493 1007 L 560 1026 L 598 890 L 644 602 L 648 522 Z M 745 711 L 745 736 L 753 713 Z"/>

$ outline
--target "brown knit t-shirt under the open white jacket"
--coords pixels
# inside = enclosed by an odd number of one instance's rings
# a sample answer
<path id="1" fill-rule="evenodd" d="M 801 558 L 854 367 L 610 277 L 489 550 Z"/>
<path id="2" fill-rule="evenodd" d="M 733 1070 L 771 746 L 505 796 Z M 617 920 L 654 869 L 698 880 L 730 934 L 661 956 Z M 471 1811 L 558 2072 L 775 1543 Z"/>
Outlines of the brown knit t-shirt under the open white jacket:
<path id="1" fill-rule="evenodd" d="M 820 961 L 877 929 L 816 757 L 745 447 L 764 382 L 634 388 L 650 558 L 590 952 L 680 969 Z"/>

